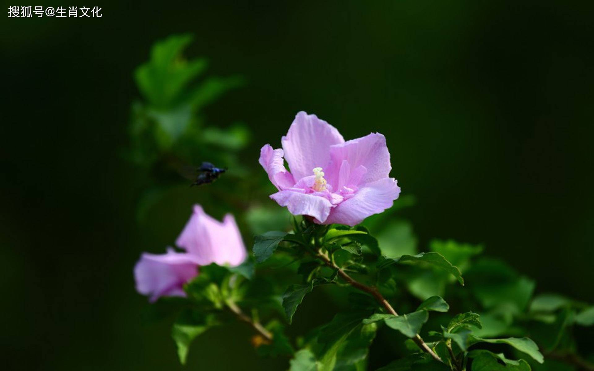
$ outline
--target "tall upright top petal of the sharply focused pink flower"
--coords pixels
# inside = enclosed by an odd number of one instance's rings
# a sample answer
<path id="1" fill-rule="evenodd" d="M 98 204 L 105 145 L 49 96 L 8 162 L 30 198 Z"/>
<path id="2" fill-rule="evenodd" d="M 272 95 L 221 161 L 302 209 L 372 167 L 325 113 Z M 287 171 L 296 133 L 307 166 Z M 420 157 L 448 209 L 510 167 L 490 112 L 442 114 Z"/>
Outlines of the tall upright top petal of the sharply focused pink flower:
<path id="1" fill-rule="evenodd" d="M 312 175 L 314 167 L 326 167 L 331 145 L 345 142 L 339 131 L 315 115 L 299 112 L 281 140 L 294 179 Z"/>

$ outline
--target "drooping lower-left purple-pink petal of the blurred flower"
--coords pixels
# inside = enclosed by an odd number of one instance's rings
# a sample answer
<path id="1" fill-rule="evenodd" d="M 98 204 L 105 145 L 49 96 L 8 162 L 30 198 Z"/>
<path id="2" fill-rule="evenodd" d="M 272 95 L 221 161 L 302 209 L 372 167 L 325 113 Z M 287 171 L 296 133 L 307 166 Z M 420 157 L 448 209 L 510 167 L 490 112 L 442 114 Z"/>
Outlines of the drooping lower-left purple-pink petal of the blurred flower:
<path id="1" fill-rule="evenodd" d="M 136 290 L 150 295 L 150 302 L 161 296 L 185 296 L 184 284 L 198 275 L 198 262 L 188 253 L 157 255 L 143 253 L 134 267 Z"/>

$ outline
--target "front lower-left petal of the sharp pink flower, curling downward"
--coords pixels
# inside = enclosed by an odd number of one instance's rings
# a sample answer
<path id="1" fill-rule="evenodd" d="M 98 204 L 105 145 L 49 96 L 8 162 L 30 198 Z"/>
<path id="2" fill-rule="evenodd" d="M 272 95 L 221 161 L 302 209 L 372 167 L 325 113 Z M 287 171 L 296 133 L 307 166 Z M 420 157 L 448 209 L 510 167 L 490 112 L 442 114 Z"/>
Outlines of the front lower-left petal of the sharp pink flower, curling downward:
<path id="1" fill-rule="evenodd" d="M 327 198 L 293 191 L 280 191 L 270 198 L 281 206 L 286 206 L 293 215 L 309 215 L 324 221 L 330 214 L 332 204 Z"/>

